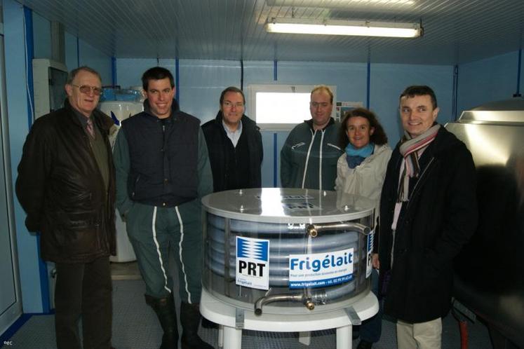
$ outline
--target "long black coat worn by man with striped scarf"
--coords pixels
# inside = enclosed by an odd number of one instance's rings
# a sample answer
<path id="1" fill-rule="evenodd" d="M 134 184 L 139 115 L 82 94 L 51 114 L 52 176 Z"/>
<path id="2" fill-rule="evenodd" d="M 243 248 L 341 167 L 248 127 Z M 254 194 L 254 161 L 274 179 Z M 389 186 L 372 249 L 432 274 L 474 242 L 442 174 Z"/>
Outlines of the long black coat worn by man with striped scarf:
<path id="1" fill-rule="evenodd" d="M 389 160 L 380 204 L 380 274 L 391 273 L 384 313 L 405 322 L 426 322 L 450 310 L 452 259 L 477 224 L 476 172 L 464 143 L 441 127 L 419 159 L 419 178 L 410 179 L 409 201 L 403 203 L 396 225 L 391 269 L 399 147 L 400 143 Z"/>

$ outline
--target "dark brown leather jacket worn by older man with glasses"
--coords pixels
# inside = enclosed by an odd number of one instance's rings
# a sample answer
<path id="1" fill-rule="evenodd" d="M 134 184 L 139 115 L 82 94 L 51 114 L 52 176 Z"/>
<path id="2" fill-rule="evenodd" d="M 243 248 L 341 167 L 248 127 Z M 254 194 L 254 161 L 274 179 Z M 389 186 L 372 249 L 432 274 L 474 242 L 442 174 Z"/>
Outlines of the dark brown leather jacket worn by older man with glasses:
<path id="1" fill-rule="evenodd" d="M 16 194 L 29 231 L 41 232 L 41 257 L 59 263 L 93 261 L 115 253 L 112 120 L 93 111 L 107 146 L 109 189 L 88 136 L 68 101 L 34 122 L 18 165 Z"/>

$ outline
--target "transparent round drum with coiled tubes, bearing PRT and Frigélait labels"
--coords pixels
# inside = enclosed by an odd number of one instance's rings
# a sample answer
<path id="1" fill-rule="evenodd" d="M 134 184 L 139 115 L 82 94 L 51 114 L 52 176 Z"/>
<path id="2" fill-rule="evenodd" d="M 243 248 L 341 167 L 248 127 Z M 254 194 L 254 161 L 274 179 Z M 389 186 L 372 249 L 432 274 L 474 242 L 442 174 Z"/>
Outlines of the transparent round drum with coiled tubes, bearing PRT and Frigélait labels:
<path id="1" fill-rule="evenodd" d="M 347 308 L 368 294 L 374 205 L 309 189 L 210 194 L 203 287 L 255 314 Z"/>

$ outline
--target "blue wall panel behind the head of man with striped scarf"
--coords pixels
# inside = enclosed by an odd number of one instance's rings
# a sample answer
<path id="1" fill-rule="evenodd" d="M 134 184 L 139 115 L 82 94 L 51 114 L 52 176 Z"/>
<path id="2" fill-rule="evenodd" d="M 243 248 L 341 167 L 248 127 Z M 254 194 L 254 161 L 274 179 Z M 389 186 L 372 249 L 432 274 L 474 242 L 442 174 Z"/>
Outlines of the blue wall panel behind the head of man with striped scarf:
<path id="1" fill-rule="evenodd" d="M 384 126 L 391 147 L 403 134 L 398 114 L 398 97 L 409 85 L 429 85 L 435 91 L 441 124 L 451 120 L 452 66 L 371 64 L 370 109 Z"/>

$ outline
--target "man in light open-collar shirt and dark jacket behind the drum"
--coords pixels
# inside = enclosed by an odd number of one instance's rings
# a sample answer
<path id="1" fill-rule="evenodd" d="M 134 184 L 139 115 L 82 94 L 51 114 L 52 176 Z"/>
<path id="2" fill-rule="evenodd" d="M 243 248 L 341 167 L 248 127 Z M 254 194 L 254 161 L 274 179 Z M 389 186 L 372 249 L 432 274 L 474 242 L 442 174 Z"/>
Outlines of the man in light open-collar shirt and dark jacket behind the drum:
<path id="1" fill-rule="evenodd" d="M 202 125 L 215 192 L 262 186 L 262 136 L 255 121 L 243 114 L 245 104 L 242 90 L 226 88 L 217 116 Z"/>

